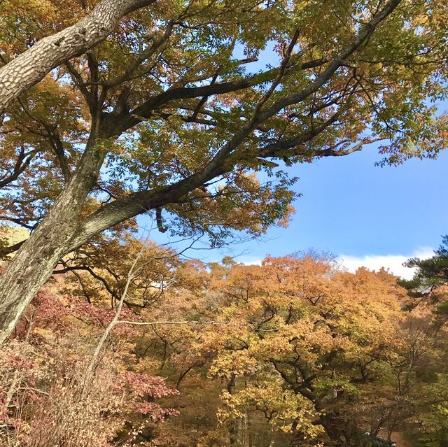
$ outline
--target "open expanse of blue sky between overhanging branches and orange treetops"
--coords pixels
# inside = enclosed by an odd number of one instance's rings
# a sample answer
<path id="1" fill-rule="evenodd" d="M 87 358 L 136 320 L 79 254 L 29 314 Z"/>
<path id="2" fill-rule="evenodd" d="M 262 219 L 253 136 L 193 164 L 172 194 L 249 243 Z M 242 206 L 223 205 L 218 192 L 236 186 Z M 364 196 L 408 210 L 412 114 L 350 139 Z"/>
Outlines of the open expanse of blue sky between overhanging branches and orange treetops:
<path id="1" fill-rule="evenodd" d="M 315 247 L 353 256 L 409 254 L 435 247 L 448 232 L 448 153 L 437 160 L 374 166 L 374 147 L 291 170 L 300 177 L 297 214 L 288 229 L 269 232 L 254 250 L 273 255 Z"/>

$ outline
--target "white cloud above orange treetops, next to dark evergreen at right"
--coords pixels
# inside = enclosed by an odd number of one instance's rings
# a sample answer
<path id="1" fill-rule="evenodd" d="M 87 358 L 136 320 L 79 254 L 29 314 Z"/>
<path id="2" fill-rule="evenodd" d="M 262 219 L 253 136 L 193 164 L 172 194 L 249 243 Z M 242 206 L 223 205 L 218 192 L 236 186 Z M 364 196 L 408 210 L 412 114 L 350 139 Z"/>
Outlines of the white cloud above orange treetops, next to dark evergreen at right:
<path id="1" fill-rule="evenodd" d="M 433 248 L 421 247 L 414 250 L 410 255 L 365 255 L 361 257 L 350 255 L 339 255 L 342 265 L 348 271 L 356 271 L 359 267 L 367 267 L 367 269 L 378 271 L 381 267 L 389 269 L 389 271 L 397 276 L 410 279 L 414 275 L 415 269 L 403 267 L 403 262 L 409 257 L 420 257 L 426 259 L 434 255 Z"/>

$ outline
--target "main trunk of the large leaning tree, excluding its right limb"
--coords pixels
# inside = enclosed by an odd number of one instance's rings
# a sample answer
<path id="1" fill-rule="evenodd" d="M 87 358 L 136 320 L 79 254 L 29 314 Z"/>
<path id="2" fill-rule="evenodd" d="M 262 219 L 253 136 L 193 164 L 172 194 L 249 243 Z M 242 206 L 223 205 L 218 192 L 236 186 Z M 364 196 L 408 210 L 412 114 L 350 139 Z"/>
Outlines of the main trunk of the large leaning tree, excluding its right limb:
<path id="1" fill-rule="evenodd" d="M 20 315 L 48 281 L 61 257 L 69 251 L 80 227 L 79 213 L 97 181 L 104 153 L 91 136 L 78 170 L 27 242 L 0 277 L 0 346 L 13 332 Z"/>

